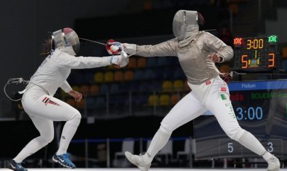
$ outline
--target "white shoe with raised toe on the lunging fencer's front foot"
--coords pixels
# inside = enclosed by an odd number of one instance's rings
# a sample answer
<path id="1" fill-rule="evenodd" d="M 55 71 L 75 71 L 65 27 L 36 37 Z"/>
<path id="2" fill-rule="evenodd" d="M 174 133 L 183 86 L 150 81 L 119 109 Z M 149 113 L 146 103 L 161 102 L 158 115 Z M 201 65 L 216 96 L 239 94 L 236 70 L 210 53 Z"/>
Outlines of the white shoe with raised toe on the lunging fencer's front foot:
<path id="1" fill-rule="evenodd" d="M 137 166 L 137 168 L 139 168 L 141 171 L 148 171 L 150 169 L 151 164 L 144 162 L 142 155 L 133 155 L 128 151 L 126 151 L 124 155 L 126 156 L 126 159 L 128 159 L 128 161 Z"/>

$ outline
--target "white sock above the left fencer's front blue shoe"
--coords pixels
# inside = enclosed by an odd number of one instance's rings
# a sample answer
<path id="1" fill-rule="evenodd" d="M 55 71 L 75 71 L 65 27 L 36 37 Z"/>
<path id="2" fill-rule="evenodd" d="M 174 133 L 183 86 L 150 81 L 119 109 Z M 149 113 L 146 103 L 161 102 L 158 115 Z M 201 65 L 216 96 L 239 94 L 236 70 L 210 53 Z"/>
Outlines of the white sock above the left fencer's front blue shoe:
<path id="1" fill-rule="evenodd" d="M 64 129 L 61 133 L 61 140 L 59 143 L 59 149 L 57 150 L 57 155 L 63 155 L 64 153 L 67 153 L 68 146 L 72 140 L 72 137 L 74 136 L 74 133 L 76 133 L 78 127 L 74 126 L 73 124 L 70 124 L 69 122 L 66 122 L 64 125 Z"/>

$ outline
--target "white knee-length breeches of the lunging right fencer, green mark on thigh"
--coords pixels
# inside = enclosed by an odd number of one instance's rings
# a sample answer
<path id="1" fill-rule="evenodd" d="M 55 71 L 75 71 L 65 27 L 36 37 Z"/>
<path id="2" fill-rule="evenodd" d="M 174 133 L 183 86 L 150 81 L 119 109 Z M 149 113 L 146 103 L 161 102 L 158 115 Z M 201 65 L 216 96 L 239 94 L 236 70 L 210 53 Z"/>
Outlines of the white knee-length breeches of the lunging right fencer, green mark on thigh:
<path id="1" fill-rule="evenodd" d="M 233 139 L 241 127 L 232 108 L 227 84 L 218 76 L 206 83 L 189 86 L 192 91 L 169 111 L 161 126 L 174 131 L 209 110 L 217 118 L 223 131 Z"/>

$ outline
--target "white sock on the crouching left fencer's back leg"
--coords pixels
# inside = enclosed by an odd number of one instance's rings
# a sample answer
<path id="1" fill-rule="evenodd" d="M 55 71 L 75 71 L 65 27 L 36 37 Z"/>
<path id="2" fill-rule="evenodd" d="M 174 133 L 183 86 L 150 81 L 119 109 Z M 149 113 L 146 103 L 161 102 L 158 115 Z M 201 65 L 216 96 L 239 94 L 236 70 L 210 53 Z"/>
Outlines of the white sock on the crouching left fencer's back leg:
<path id="1" fill-rule="evenodd" d="M 44 138 L 41 136 L 36 137 L 31 140 L 13 160 L 16 163 L 21 163 L 24 159 L 26 159 L 30 155 L 33 155 L 33 153 L 36 153 L 48 143 L 49 140 L 44 140 Z"/>

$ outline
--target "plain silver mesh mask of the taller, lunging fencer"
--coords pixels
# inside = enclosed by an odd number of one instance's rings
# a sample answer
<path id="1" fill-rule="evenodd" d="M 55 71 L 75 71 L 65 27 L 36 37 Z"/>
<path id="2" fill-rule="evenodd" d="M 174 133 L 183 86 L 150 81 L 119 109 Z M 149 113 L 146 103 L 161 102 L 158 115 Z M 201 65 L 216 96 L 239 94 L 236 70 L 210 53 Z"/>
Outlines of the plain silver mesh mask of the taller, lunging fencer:
<path id="1" fill-rule="evenodd" d="M 179 10 L 174 15 L 172 31 L 174 36 L 184 39 L 186 34 L 193 34 L 199 31 L 198 25 L 205 23 L 202 15 L 197 11 Z"/>

